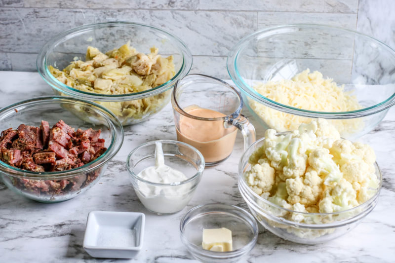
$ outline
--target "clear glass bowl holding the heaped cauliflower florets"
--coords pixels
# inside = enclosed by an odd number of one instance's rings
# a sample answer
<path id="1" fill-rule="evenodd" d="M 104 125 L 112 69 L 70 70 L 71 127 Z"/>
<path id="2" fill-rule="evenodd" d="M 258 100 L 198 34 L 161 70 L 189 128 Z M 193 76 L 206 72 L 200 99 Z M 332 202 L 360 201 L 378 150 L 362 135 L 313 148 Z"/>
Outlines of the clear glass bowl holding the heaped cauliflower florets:
<path id="1" fill-rule="evenodd" d="M 281 135 L 284 133 L 278 133 Z M 238 166 L 238 189 L 255 219 L 275 235 L 302 244 L 318 244 L 335 239 L 356 227 L 376 206 L 382 184 L 381 171 L 375 163 L 380 181 L 374 195 L 365 203 L 337 213 L 302 213 L 289 210 L 256 194 L 245 182 L 244 173 L 251 167 L 248 158 L 264 143 L 264 138 L 252 144 L 241 156 Z M 299 223 L 289 220 L 309 222 Z"/>

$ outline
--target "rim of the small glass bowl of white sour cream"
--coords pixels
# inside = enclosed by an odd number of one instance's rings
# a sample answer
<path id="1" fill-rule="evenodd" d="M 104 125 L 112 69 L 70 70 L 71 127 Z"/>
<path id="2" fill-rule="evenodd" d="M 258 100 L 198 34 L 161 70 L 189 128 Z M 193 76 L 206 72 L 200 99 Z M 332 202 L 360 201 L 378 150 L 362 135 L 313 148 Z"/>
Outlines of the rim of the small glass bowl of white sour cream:
<path id="1" fill-rule="evenodd" d="M 197 153 L 197 156 L 199 156 L 199 159 L 201 160 L 201 164 L 198 166 L 197 172 L 193 176 L 191 176 L 190 178 L 188 178 L 188 179 L 186 179 L 184 181 L 176 182 L 177 183 L 176 185 L 174 183 L 169 183 L 169 184 L 154 183 L 154 182 L 147 181 L 147 180 L 139 177 L 136 173 L 133 172 L 132 167 L 130 167 L 130 159 L 132 157 L 132 154 L 134 152 L 140 150 L 141 148 L 146 147 L 146 146 L 155 145 L 156 142 L 160 142 L 162 145 L 163 144 L 173 144 L 173 145 L 174 144 L 175 145 L 180 144 L 180 145 L 186 146 L 189 149 L 193 150 L 195 153 Z M 164 152 L 163 152 L 163 154 L 164 154 L 164 156 L 166 156 L 166 154 Z M 203 157 L 203 155 L 201 154 L 201 152 L 199 150 L 197 150 L 192 145 L 189 145 L 189 144 L 186 144 L 186 143 L 183 143 L 183 142 L 179 142 L 179 141 L 174 141 L 174 140 L 155 140 L 155 141 L 150 141 L 150 142 L 141 144 L 141 145 L 137 146 L 136 148 L 134 148 L 133 150 L 131 150 L 129 152 L 129 154 L 127 155 L 127 158 L 126 158 L 126 168 L 127 168 L 127 171 L 129 172 L 129 175 L 132 176 L 132 178 L 136 179 L 137 181 L 143 182 L 145 184 L 152 185 L 152 186 L 157 186 L 157 187 L 166 187 L 166 186 L 168 186 L 168 187 L 177 187 L 177 186 L 181 186 L 181 185 L 187 184 L 189 182 L 192 182 L 196 178 L 201 177 L 201 175 L 203 174 L 204 165 L 205 165 L 205 160 L 204 160 L 204 157 Z"/>

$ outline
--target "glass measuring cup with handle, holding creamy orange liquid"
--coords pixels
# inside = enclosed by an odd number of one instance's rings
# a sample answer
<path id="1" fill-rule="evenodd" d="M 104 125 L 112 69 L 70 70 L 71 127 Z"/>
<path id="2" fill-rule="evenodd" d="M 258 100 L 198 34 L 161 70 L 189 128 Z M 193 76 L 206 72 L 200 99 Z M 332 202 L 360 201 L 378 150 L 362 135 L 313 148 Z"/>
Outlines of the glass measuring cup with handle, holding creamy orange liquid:
<path id="1" fill-rule="evenodd" d="M 177 140 L 199 150 L 206 166 L 216 165 L 232 153 L 237 129 L 244 150 L 255 142 L 255 129 L 241 114 L 240 93 L 221 79 L 191 74 L 177 80 L 171 97 Z"/>

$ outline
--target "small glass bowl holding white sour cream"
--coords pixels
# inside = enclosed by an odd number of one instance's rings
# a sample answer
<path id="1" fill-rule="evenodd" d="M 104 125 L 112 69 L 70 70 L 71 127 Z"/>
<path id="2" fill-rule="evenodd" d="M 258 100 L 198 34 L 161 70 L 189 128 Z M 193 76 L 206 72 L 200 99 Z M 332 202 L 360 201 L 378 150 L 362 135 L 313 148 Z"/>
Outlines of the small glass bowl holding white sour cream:
<path id="1" fill-rule="evenodd" d="M 182 172 L 188 179 L 171 184 L 146 181 L 138 174 L 155 165 L 156 142 L 162 144 L 164 164 Z M 126 160 L 130 181 L 141 203 L 158 214 L 174 214 L 191 200 L 204 169 L 204 157 L 195 147 L 186 143 L 158 140 L 140 145 L 132 150 Z"/>

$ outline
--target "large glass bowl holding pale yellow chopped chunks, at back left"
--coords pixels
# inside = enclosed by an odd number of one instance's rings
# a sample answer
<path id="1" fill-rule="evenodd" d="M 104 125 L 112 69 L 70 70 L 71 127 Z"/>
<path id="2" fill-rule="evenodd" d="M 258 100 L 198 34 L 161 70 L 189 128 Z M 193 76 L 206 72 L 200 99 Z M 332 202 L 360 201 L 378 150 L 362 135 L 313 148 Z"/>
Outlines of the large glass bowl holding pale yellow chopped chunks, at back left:
<path id="1" fill-rule="evenodd" d="M 155 46 L 162 56 L 172 55 L 175 75 L 153 89 L 122 95 L 107 95 L 74 89 L 57 80 L 49 72 L 49 66 L 63 70 L 74 57 L 84 59 L 88 46 L 107 52 L 128 41 L 138 52 L 149 53 L 150 48 Z M 115 113 L 122 125 L 135 124 L 158 113 L 170 101 L 171 88 L 175 81 L 187 75 L 191 66 L 191 52 L 181 39 L 161 29 L 131 22 L 90 24 L 71 29 L 50 39 L 41 48 L 37 57 L 37 70 L 55 94 L 97 102 Z M 143 100 L 144 98 L 150 99 Z M 134 105 L 144 105 L 143 110 L 139 108 L 133 113 Z"/>

